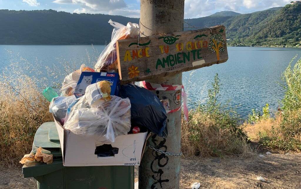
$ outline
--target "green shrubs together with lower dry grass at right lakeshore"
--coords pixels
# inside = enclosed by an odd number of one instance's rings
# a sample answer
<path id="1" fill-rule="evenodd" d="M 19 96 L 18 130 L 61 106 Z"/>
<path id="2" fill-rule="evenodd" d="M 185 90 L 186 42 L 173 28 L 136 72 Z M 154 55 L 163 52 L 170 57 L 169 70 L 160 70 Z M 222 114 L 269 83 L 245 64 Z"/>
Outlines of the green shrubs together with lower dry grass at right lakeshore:
<path id="1" fill-rule="evenodd" d="M 296 58 L 296 57 L 295 57 Z M 294 58 L 294 59 L 295 59 Z M 301 151 L 301 59 L 282 74 L 285 84 L 285 95 L 282 106 L 270 117 L 268 104 L 261 112 L 254 109 L 245 124 L 251 139 L 257 138 L 259 143 L 273 150 Z"/>

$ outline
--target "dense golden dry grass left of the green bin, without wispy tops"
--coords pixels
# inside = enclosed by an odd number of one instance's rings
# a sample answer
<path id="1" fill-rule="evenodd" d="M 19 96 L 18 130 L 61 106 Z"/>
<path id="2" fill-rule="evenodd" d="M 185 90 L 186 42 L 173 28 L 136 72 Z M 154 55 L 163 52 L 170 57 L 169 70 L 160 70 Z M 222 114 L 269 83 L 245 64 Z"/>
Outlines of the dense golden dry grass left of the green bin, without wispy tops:
<path id="1" fill-rule="evenodd" d="M 33 80 L 0 83 L 0 162 L 16 164 L 31 151 L 37 128 L 51 120 L 47 102 Z"/>

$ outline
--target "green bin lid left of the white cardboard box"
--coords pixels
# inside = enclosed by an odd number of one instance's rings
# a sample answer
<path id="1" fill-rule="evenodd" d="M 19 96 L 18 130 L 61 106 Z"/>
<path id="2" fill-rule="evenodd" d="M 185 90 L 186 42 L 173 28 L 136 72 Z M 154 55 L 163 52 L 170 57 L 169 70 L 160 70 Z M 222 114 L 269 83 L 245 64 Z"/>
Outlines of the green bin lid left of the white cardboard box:
<path id="1" fill-rule="evenodd" d="M 54 122 L 43 123 L 36 131 L 33 140 L 33 153 L 42 147 L 43 153 L 53 154 L 53 156 L 62 156 L 60 139 Z"/>

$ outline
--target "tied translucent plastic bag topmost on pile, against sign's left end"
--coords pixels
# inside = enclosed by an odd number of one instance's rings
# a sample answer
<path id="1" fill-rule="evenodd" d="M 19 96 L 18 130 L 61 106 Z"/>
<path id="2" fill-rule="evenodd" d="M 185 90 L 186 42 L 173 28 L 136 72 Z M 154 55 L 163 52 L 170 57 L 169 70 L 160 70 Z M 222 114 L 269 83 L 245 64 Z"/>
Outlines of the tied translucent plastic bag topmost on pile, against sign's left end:
<path id="1" fill-rule="evenodd" d="M 100 69 L 101 72 L 117 71 L 117 51 L 116 42 L 120 39 L 135 38 L 139 35 L 139 25 L 129 22 L 126 26 L 113 22 L 109 23 L 114 27 L 112 32 L 111 42 L 103 50 L 95 64 L 95 69 Z"/>

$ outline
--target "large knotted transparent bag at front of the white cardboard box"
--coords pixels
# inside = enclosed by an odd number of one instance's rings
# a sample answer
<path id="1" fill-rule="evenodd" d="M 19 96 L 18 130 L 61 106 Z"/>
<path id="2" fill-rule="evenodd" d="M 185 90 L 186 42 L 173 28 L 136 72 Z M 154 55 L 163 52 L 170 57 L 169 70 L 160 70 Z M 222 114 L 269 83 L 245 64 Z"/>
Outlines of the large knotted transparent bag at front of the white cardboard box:
<path id="1" fill-rule="evenodd" d="M 64 128 L 74 134 L 94 136 L 100 142 L 113 143 L 115 137 L 131 129 L 130 100 L 111 96 L 111 101 L 97 108 L 91 107 L 85 96 L 71 108 Z"/>

